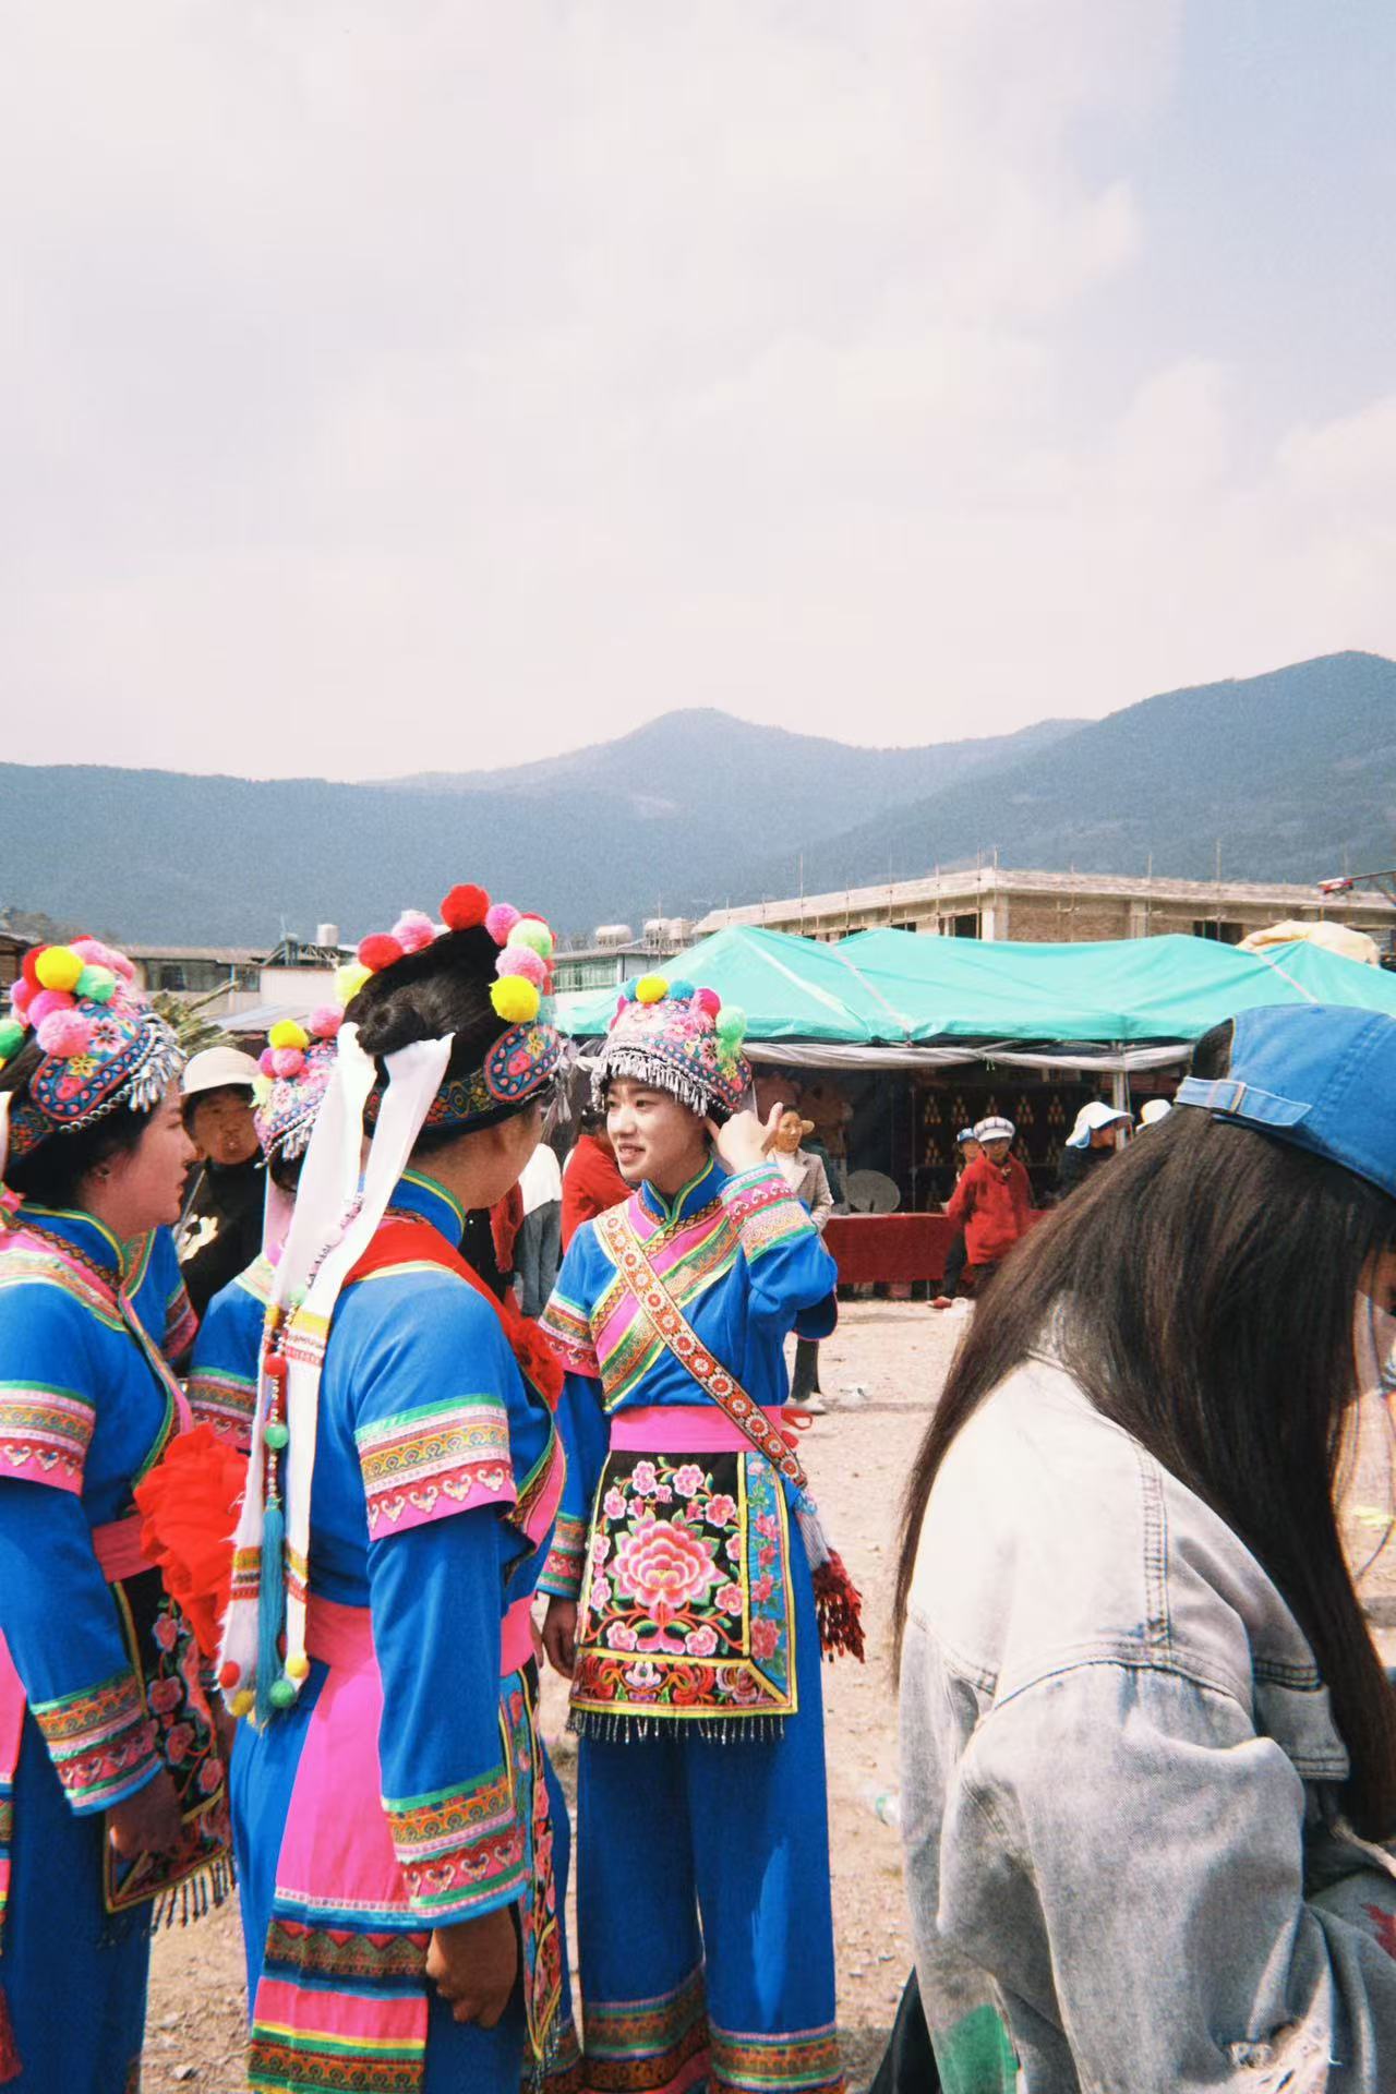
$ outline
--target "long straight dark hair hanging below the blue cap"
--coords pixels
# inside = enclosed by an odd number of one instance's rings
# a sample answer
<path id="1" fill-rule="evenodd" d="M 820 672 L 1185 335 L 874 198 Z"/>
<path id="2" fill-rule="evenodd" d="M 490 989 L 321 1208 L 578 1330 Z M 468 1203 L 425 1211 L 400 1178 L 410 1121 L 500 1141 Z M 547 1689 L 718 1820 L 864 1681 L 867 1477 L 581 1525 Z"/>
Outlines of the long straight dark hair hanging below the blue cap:
<path id="1" fill-rule="evenodd" d="M 1224 1028 L 1229 1032 L 1229 1028 Z M 1197 1062 L 1226 1066 L 1214 1034 Z M 921 1522 L 984 1399 L 1051 1344 L 1245 1541 L 1308 1638 L 1352 1761 L 1346 1805 L 1396 1832 L 1396 1694 L 1373 1650 L 1333 1503 L 1356 1388 L 1354 1317 L 1396 1202 L 1339 1164 L 1185 1108 L 1042 1221 L 984 1292 L 902 1510 L 900 1654 Z"/>

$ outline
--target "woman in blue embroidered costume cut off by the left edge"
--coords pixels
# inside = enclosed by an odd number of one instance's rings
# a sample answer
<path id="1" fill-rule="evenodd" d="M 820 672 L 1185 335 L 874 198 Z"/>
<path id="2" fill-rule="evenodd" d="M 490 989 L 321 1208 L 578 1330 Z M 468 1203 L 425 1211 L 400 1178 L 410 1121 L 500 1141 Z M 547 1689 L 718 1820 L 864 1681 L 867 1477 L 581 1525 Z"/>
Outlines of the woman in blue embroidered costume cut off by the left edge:
<path id="1" fill-rule="evenodd" d="M 132 1503 L 184 1411 L 121 1246 L 178 1219 L 193 1148 L 174 1034 L 130 976 L 92 940 L 42 949 L 0 1026 L 21 1196 L 0 1240 L 0 2081 L 19 2094 L 136 2086 L 151 1887 L 218 1853 L 218 1740 Z M 195 1776 L 188 1839 L 167 1765 Z"/>

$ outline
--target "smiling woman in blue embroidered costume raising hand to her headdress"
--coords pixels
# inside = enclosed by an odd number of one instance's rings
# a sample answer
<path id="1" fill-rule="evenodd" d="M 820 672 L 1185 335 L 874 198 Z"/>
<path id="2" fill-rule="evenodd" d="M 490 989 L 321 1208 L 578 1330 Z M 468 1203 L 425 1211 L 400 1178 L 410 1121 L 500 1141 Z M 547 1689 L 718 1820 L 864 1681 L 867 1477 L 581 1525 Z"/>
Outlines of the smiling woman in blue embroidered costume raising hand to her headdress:
<path id="1" fill-rule="evenodd" d="M 739 1043 L 712 990 L 649 976 L 622 1001 L 596 1095 L 636 1189 L 578 1229 L 544 1315 L 584 2065 L 626 2094 L 841 2086 L 806 1533 L 848 1642 L 856 1623 L 779 1430 L 785 1338 L 829 1334 L 837 1275 L 743 1110 Z"/>

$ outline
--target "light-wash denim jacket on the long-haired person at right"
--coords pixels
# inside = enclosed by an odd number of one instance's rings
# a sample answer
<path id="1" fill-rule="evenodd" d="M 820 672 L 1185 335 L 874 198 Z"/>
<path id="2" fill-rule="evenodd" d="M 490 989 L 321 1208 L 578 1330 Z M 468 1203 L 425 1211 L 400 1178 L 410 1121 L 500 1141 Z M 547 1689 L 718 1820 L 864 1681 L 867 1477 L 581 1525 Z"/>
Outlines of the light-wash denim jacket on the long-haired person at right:
<path id="1" fill-rule="evenodd" d="M 927 1506 L 902 1830 L 948 2094 L 1396 2090 L 1396 1864 L 1237 1535 L 1061 1367 Z"/>

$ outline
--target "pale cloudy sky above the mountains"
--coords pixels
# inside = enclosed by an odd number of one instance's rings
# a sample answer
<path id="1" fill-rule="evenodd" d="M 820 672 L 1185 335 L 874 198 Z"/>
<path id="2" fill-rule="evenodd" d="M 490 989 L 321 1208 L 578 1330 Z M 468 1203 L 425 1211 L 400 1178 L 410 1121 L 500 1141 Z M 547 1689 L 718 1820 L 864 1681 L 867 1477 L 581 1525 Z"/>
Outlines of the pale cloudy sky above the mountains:
<path id="1" fill-rule="evenodd" d="M 0 756 L 1396 653 L 1390 0 L 17 0 Z"/>

